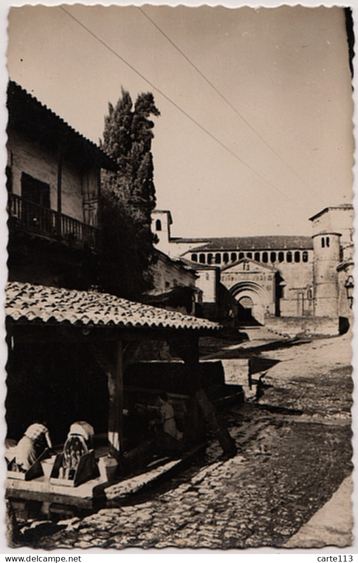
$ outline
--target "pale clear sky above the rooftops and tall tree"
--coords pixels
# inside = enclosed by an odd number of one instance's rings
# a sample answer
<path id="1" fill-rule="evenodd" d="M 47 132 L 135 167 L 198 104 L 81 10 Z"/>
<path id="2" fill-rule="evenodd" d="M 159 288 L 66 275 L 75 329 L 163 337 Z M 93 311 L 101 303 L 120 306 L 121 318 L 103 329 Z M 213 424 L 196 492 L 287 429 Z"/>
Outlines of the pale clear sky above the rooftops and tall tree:
<path id="1" fill-rule="evenodd" d="M 308 217 L 351 202 L 341 8 L 62 8 L 11 8 L 10 78 L 95 142 L 121 87 L 152 91 L 172 235 L 309 235 Z"/>

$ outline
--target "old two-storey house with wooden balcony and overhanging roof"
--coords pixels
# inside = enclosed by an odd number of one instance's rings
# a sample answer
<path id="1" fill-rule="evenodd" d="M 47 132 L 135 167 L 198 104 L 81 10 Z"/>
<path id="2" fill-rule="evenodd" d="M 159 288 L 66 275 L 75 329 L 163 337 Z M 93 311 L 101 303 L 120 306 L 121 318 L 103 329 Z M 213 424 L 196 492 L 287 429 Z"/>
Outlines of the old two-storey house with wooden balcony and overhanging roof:
<path id="1" fill-rule="evenodd" d="M 100 252 L 100 169 L 116 165 L 14 82 L 7 109 L 9 279 L 87 289 Z"/>

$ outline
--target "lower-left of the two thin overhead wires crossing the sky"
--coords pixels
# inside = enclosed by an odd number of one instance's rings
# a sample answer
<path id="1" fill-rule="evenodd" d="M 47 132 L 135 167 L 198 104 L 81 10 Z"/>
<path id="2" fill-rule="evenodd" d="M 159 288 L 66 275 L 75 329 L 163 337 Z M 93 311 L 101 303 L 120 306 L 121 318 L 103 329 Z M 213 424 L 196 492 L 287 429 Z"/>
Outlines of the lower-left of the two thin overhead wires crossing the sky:
<path id="1" fill-rule="evenodd" d="M 141 72 L 139 72 L 139 70 L 137 70 L 135 68 L 135 66 L 133 66 L 130 62 L 128 62 L 126 59 L 124 59 L 124 57 L 122 57 L 121 55 L 119 55 L 119 53 L 117 53 L 117 51 L 115 51 L 113 48 L 111 48 L 105 41 L 103 41 L 103 39 L 101 39 L 100 37 L 98 37 L 98 35 L 96 35 L 96 33 L 92 32 L 91 29 L 89 29 L 86 25 L 84 25 L 82 23 L 82 21 L 80 21 L 79 19 L 77 19 L 77 17 L 75 17 L 74 15 L 72 15 L 68 10 L 66 10 L 66 8 L 64 8 L 63 6 L 58 6 L 60 8 L 60 10 L 62 10 L 63 12 L 65 12 L 66 15 L 68 15 L 71 19 L 73 19 L 80 27 L 82 27 L 84 30 L 86 30 L 87 33 L 89 33 L 90 35 L 92 35 L 93 38 L 96 39 L 96 41 L 99 41 L 102 46 L 104 46 L 108 51 L 110 51 L 115 57 L 117 57 L 117 59 L 119 59 L 120 61 L 122 61 L 125 65 L 128 66 L 128 68 L 130 68 L 131 70 L 133 70 L 134 73 L 136 73 L 140 78 L 142 78 L 147 84 L 149 84 L 149 86 L 151 88 L 153 88 L 153 90 L 156 90 L 156 92 L 158 92 L 161 96 L 164 97 L 165 100 L 167 100 L 170 104 L 172 104 L 174 106 L 174 108 L 176 108 L 178 111 L 180 111 L 183 115 L 185 115 L 185 117 L 187 117 L 188 119 L 190 119 L 190 121 L 192 123 L 194 123 L 197 127 L 199 127 L 199 129 L 201 129 L 206 135 L 208 135 L 209 137 L 212 138 L 212 140 L 216 141 L 218 143 L 218 145 L 220 145 L 223 149 L 225 149 L 228 153 L 230 153 L 232 155 L 232 157 L 234 157 L 236 160 L 239 160 L 239 162 L 241 164 L 243 164 L 246 168 L 248 168 L 251 172 L 253 172 L 256 176 L 258 176 L 259 178 L 261 178 L 261 180 L 263 180 L 263 182 L 265 182 L 265 184 L 269 185 L 270 187 L 272 187 L 274 190 L 276 190 L 280 195 L 283 195 L 285 198 L 292 200 L 292 198 L 289 198 L 288 195 L 286 193 L 284 193 L 283 191 L 279 190 L 278 187 L 274 186 L 274 184 L 271 184 L 271 182 L 269 180 L 267 180 L 265 177 L 261 176 L 261 174 L 259 172 L 257 172 L 254 168 L 252 168 L 249 164 L 247 164 L 243 159 L 241 159 L 236 153 L 234 153 L 234 151 L 232 151 L 227 145 L 225 145 L 222 141 L 220 141 L 220 139 L 218 139 L 216 136 L 214 136 L 210 131 L 208 131 L 208 129 L 206 129 L 205 127 L 202 126 L 202 124 L 200 124 L 194 117 L 192 117 L 189 113 L 187 113 L 184 109 L 182 109 L 176 102 L 174 102 L 171 98 L 169 98 L 169 96 L 167 96 L 162 90 L 160 90 L 157 86 L 155 86 L 155 84 L 153 84 L 153 82 L 151 82 L 148 78 L 146 78 L 144 76 L 144 74 L 142 74 Z M 293 201 L 293 200 L 292 200 Z"/>

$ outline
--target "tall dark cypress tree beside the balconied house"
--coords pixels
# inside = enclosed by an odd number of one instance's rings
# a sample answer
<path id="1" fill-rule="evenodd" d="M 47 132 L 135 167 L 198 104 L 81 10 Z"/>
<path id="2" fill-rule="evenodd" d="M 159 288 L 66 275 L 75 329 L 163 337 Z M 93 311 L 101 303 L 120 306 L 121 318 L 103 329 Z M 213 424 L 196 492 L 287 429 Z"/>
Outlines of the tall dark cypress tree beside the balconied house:
<path id="1" fill-rule="evenodd" d="M 150 92 L 133 102 L 123 90 L 117 105 L 109 104 L 102 148 L 118 164 L 105 171 L 101 186 L 102 290 L 140 299 L 152 287 L 149 266 L 154 261 L 151 212 L 155 207 L 154 165 L 151 141 L 160 115 Z"/>

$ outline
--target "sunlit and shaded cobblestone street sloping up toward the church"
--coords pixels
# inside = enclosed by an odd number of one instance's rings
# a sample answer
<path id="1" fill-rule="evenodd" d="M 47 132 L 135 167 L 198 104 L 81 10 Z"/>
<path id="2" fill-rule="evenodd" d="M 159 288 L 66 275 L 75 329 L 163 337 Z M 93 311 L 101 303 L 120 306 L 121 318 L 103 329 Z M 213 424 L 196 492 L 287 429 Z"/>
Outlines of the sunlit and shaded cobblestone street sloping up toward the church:
<path id="1" fill-rule="evenodd" d="M 61 547 L 284 546 L 351 472 L 350 337 L 316 339 L 265 354 L 258 403 L 226 409 L 238 454 L 205 463 L 87 517 L 21 523 L 21 543 Z M 287 361 L 283 361 L 287 360 Z M 349 507 L 347 507 L 349 510 Z M 349 531 L 349 530 L 348 530 Z"/>

